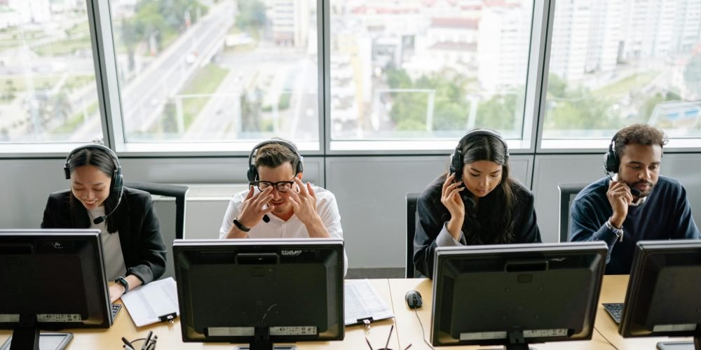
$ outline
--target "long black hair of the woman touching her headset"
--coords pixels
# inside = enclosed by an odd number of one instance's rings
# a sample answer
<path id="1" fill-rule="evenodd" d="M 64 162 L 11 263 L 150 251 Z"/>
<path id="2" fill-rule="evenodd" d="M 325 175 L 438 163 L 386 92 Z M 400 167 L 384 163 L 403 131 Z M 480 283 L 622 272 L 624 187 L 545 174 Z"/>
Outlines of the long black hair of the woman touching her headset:
<path id="1" fill-rule="evenodd" d="M 479 160 L 488 160 L 501 165 L 501 182 L 496 188 L 480 198 L 476 208 L 465 203 L 463 223 L 465 240 L 468 244 L 514 242 L 514 211 L 517 202 L 515 192 L 519 187 L 509 176 L 508 150 L 505 144 L 498 137 L 479 134 L 468 137 L 459 147 L 463 153 L 463 165 Z M 447 175 L 446 172 L 440 178 L 442 181 L 438 181 L 437 205 L 441 207 L 444 206 L 440 202 L 440 193 Z M 470 196 L 469 190 L 463 190 L 462 195 Z"/>

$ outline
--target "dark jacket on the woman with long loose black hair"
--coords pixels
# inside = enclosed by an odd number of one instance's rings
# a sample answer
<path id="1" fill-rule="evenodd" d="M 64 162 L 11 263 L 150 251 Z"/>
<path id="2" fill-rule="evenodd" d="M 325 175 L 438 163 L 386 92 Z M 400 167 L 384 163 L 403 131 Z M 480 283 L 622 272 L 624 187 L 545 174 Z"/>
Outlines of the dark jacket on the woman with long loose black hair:
<path id="1" fill-rule="evenodd" d="M 416 234 L 414 235 L 414 267 L 428 278 L 433 277 L 433 260 L 435 248 L 438 246 L 436 239 L 443 229 L 443 225 L 450 221 L 450 212 L 440 202 L 444 181 L 445 176 L 440 176 L 421 193 L 416 202 L 416 214 L 418 215 Z M 533 193 L 516 181 L 514 181 L 512 190 L 515 195 L 515 207 L 512 214 L 514 241 L 508 243 L 540 243 L 540 230 L 536 224 L 536 211 L 533 209 Z M 479 213 L 477 215 L 479 216 Z M 473 218 L 468 218 L 468 209 L 466 208 L 465 225 L 468 225 L 470 220 Z M 479 221 L 479 218 L 477 220 Z M 470 235 L 470 232 L 465 232 L 465 225 L 463 225 L 463 235 Z M 484 228 L 484 230 L 489 230 L 489 228 Z M 487 237 L 489 237 L 489 233 L 484 232 Z M 451 241 L 453 240 L 451 239 Z M 497 242 L 484 241 L 482 244 L 494 243 Z M 460 244 L 467 245 L 465 237 L 461 237 Z"/>

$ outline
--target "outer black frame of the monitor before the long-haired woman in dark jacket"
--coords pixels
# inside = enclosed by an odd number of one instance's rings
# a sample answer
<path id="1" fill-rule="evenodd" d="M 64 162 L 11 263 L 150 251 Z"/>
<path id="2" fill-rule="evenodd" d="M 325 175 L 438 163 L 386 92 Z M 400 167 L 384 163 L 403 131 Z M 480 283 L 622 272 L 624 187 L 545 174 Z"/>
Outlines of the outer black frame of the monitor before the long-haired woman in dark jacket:
<path id="1" fill-rule="evenodd" d="M 543 252 L 547 253 L 591 253 L 598 255 L 598 265 L 594 271 L 594 281 L 592 281 L 591 300 L 587 305 L 588 318 L 585 321 L 587 327 L 578 335 L 567 335 L 563 337 L 529 337 L 524 340 L 525 343 L 539 342 L 559 342 L 573 340 L 592 339 L 594 332 L 594 319 L 597 313 L 597 304 L 601 293 L 601 283 L 604 278 L 604 270 L 606 269 L 606 253 L 608 248 L 603 241 L 593 242 L 568 242 L 561 244 L 495 244 L 484 246 L 457 246 L 457 247 L 438 247 L 435 253 L 435 263 L 433 266 L 433 305 L 431 311 L 431 342 L 434 346 L 463 346 L 463 345 L 506 345 L 508 339 L 474 339 L 460 340 L 454 339 L 453 342 L 442 342 L 440 339 L 440 325 L 435 322 L 440 319 L 441 300 L 437 300 L 436 295 L 442 293 L 440 279 L 442 274 L 440 269 L 446 265 L 448 260 L 460 258 L 461 256 L 486 256 L 495 254 L 516 254 L 521 258 L 524 255 L 537 255 Z"/>

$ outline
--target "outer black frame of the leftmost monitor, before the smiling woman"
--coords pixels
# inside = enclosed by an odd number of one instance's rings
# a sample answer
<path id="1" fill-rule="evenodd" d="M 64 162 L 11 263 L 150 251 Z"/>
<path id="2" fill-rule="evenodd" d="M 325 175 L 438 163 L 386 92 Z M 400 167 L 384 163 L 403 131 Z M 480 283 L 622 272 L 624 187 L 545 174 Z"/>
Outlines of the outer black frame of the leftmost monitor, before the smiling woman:
<path id="1" fill-rule="evenodd" d="M 100 323 L 77 323 L 77 322 L 36 322 L 36 327 L 41 330 L 61 330 L 67 328 L 109 328 L 113 323 L 111 313 L 111 302 L 109 301 L 109 285 L 106 279 L 104 270 L 104 255 L 102 252 L 102 240 L 100 239 L 100 230 L 97 229 L 2 229 L 0 230 L 0 241 L 6 238 L 24 239 L 81 239 L 88 240 L 90 245 L 95 247 L 96 255 L 93 255 L 93 264 L 98 266 L 98 278 L 96 285 L 93 286 L 96 290 L 100 290 L 98 300 L 100 300 L 100 315 L 102 322 Z M 56 276 L 56 283 L 60 283 L 60 276 Z M 50 284 L 47 285 L 50 288 Z M 5 301 L 4 301 L 5 302 Z M 15 329 L 20 326 L 17 322 L 1 322 L 0 329 Z"/>

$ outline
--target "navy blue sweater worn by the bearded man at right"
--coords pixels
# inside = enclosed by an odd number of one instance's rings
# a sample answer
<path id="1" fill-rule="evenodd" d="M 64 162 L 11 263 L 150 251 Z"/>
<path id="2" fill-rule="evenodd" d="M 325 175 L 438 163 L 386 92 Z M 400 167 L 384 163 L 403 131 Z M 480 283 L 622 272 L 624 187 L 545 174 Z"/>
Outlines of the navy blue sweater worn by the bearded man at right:
<path id="1" fill-rule="evenodd" d="M 606 241 L 607 274 L 629 274 L 637 241 L 651 239 L 699 239 L 686 190 L 679 182 L 660 176 L 646 202 L 628 207 L 623 221 L 623 241 L 606 228 L 613 209 L 606 197 L 608 179 L 585 187 L 572 202 L 570 234 L 573 241 Z"/>

